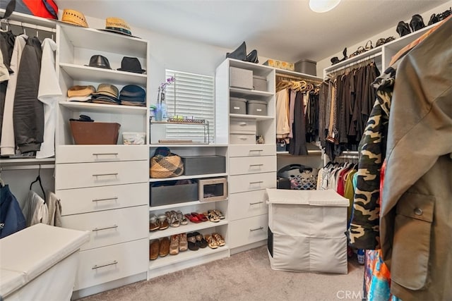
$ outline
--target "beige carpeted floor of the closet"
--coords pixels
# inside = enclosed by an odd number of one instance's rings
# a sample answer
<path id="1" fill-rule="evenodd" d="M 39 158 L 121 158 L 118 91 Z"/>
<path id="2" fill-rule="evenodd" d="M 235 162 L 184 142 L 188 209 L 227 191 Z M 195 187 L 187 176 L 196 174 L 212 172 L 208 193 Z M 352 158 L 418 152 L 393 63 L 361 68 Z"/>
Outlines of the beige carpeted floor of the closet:
<path id="1" fill-rule="evenodd" d="M 355 259 L 349 260 L 348 274 L 275 271 L 263 246 L 81 300 L 362 300 L 363 273 Z"/>

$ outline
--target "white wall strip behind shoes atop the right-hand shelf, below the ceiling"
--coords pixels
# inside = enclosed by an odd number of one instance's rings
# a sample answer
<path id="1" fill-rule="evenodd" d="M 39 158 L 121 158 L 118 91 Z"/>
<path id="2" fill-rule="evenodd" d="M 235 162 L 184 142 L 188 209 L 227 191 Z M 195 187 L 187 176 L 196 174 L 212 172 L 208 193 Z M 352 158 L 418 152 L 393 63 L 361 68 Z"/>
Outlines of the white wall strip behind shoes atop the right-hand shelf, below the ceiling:
<path id="1" fill-rule="evenodd" d="M 446 9 L 450 8 L 451 4 L 452 4 L 452 1 L 450 1 L 448 4 L 443 4 L 441 6 L 437 6 L 436 8 L 433 8 L 430 11 L 425 11 L 424 13 L 420 13 L 420 15 L 422 16 L 422 19 L 424 20 L 424 24 L 427 26 L 427 24 L 429 23 L 429 20 L 430 20 L 430 16 L 432 16 L 433 13 L 442 13 L 443 11 L 446 11 Z M 404 21 L 406 23 L 410 24 L 410 20 L 411 20 L 411 18 L 408 20 L 404 20 Z M 397 24 L 399 23 L 399 21 L 401 21 L 401 20 L 394 20 L 394 23 L 391 24 L 391 27 L 388 27 L 387 30 L 380 32 L 378 35 L 369 37 L 369 38 L 365 39 L 364 41 L 359 42 L 355 45 L 351 45 L 351 46 L 343 45 L 342 49 L 347 47 L 347 56 L 350 56 L 350 54 L 355 52 L 359 46 L 364 47 L 364 45 L 367 43 L 367 41 L 369 41 L 369 39 L 372 41 L 372 45 L 374 45 L 374 47 L 375 47 L 376 41 L 378 39 L 380 39 L 381 37 L 387 38 L 387 37 L 393 36 L 396 39 L 398 39 L 400 36 L 398 35 L 396 28 L 397 28 Z M 317 76 L 320 76 L 320 77 L 323 76 L 323 69 L 331 66 L 330 59 L 334 56 L 338 56 L 339 59 L 342 59 L 343 58 L 342 50 L 340 50 L 340 52 L 338 52 L 338 53 L 331 54 L 330 56 L 326 57 L 325 59 L 317 62 Z"/>

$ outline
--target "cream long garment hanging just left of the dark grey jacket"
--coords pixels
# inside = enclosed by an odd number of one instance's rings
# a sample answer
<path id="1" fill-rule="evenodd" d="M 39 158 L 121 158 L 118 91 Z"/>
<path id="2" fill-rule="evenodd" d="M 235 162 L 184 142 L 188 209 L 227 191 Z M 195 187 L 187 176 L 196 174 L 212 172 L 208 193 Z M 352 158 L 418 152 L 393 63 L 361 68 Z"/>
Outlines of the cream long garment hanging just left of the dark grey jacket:
<path id="1" fill-rule="evenodd" d="M 16 94 L 17 75 L 20 67 L 20 59 L 28 37 L 19 35 L 14 42 L 13 54 L 11 56 L 10 68 L 13 73 L 9 75 L 8 87 L 6 87 L 3 123 L 1 127 L 0 154 L 11 156 L 15 154 L 16 144 L 14 142 L 13 109 Z"/>

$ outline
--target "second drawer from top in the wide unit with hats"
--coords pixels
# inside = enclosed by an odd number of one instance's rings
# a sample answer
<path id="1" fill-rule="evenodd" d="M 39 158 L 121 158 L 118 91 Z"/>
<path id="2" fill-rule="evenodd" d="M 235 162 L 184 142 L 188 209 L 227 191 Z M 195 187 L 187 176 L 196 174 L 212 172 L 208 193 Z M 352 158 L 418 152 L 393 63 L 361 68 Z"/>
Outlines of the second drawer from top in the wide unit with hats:
<path id="1" fill-rule="evenodd" d="M 55 164 L 55 190 L 149 181 L 148 161 Z"/>

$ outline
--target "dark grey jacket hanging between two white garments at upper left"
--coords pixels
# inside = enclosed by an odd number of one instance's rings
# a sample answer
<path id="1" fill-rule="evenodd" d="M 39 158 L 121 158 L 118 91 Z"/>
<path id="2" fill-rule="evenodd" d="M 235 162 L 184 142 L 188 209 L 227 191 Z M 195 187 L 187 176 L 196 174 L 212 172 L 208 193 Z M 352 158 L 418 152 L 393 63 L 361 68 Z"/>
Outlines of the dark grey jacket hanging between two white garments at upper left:
<path id="1" fill-rule="evenodd" d="M 20 58 L 13 109 L 14 139 L 20 153 L 37 152 L 44 139 L 44 106 L 37 99 L 42 49 L 30 37 Z"/>

